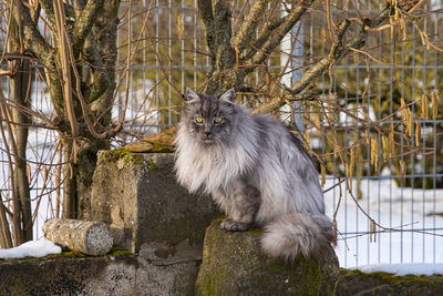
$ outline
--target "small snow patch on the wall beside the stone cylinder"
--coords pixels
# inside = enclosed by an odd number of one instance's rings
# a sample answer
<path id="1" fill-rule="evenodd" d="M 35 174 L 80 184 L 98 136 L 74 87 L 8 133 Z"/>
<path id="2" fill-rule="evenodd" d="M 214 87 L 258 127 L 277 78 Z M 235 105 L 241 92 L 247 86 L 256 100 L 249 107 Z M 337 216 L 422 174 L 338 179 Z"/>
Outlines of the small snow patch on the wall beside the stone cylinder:
<path id="1" fill-rule="evenodd" d="M 0 258 L 44 257 L 60 254 L 62 248 L 50 241 L 31 241 L 13 248 L 0 248 Z"/>

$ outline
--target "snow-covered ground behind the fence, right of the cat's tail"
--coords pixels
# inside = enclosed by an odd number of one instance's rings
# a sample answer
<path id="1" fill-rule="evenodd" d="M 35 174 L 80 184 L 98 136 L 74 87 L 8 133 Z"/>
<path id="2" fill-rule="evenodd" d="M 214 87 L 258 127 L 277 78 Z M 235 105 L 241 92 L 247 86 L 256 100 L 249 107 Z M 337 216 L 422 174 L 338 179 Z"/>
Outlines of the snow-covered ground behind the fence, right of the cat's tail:
<path id="1" fill-rule="evenodd" d="M 323 190 L 337 184 L 327 178 Z M 357 196 L 357 180 L 353 192 Z M 342 198 L 337 214 L 340 266 L 351 268 L 373 264 L 443 264 L 443 190 L 399 187 L 394 180 L 363 180 L 359 205 L 377 223 L 375 236 L 368 234 L 370 220 L 358 208 L 342 184 Z M 339 187 L 324 194 L 327 214 L 332 217 L 339 202 Z M 400 232 L 403 229 L 403 232 Z"/>

